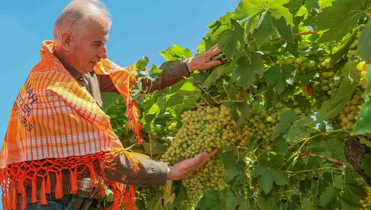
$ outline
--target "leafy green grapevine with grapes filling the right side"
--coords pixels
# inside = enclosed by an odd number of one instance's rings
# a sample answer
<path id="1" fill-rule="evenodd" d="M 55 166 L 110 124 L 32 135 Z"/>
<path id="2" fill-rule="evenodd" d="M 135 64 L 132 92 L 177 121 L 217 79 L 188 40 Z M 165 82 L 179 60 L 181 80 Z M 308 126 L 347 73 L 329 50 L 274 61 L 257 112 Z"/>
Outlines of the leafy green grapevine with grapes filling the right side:
<path id="1" fill-rule="evenodd" d="M 193 156 L 215 145 L 220 148 L 207 166 L 209 172 L 199 170 L 162 188 L 138 187 L 138 207 L 367 209 L 370 4 L 371 0 L 242 0 L 234 12 L 208 25 L 210 32 L 195 54 L 218 43 L 223 54 L 215 59 L 224 64 L 196 70 L 153 93 L 143 91 L 140 81 L 154 80 L 161 69 L 147 69 L 149 59 L 139 59 L 132 92 L 142 113 L 143 144 L 133 144 L 123 98 L 104 95 L 104 111 L 123 145 L 169 163 L 187 152 Z M 170 61 L 194 54 L 173 45 L 161 55 Z M 215 118 L 206 119 L 211 114 Z M 197 126 L 210 124 L 216 128 L 210 137 L 219 144 L 208 137 L 198 140 L 207 131 Z M 184 136 L 189 141 L 182 141 Z M 214 174 L 213 164 L 218 164 L 219 173 Z M 194 177 L 201 182 L 200 177 L 212 172 L 222 177 L 216 187 L 200 191 L 197 183 L 187 182 Z M 190 191 L 196 198 L 191 199 Z M 109 193 L 101 200 L 109 206 Z"/>

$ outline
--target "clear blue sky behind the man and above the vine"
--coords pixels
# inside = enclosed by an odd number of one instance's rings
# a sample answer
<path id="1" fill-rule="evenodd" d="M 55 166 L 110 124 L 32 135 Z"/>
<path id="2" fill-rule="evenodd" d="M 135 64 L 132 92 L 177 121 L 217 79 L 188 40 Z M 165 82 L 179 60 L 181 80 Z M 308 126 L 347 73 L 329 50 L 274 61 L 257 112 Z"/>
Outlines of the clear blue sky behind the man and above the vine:
<path id="1" fill-rule="evenodd" d="M 193 52 L 208 32 L 207 25 L 236 0 L 103 0 L 112 13 L 108 57 L 127 66 L 141 56 L 161 64 L 158 53 L 171 44 Z M 68 0 L 4 0 L 0 8 L 0 143 L 3 143 L 12 104 L 31 68 L 40 60 L 41 42 L 53 39 L 52 28 Z"/>

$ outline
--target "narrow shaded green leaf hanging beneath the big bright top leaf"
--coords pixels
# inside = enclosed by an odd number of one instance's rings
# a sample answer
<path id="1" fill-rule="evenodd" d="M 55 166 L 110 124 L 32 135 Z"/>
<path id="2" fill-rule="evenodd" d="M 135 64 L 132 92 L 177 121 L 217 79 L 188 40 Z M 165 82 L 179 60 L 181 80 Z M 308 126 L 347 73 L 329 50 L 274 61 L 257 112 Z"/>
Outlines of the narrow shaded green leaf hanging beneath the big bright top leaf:
<path id="1" fill-rule="evenodd" d="M 252 37 L 256 40 L 258 46 L 268 39 L 268 37 L 275 31 L 274 18 L 270 12 L 264 11 L 256 23 L 256 29 L 254 30 Z"/>

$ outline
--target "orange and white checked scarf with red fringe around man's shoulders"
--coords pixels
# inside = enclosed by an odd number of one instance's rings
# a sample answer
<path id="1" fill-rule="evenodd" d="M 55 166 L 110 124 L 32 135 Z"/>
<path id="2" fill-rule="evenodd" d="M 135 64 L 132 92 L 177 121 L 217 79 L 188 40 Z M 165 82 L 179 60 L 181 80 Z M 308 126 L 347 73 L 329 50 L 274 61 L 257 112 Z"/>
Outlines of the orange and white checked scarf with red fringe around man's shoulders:
<path id="1" fill-rule="evenodd" d="M 26 207 L 26 185 L 32 186 L 32 202 L 37 201 L 37 178 L 42 178 L 41 204 L 47 204 L 46 193 L 54 191 L 56 198 L 63 193 L 76 194 L 77 177 L 89 170 L 91 186 L 98 182 L 112 186 L 112 209 L 124 204 L 134 208 L 133 186 L 107 180 L 103 169 L 113 168 L 112 161 L 124 155 L 137 170 L 137 160 L 123 149 L 112 130 L 109 118 L 96 104 L 85 87 L 80 85 L 53 54 L 55 43 L 43 41 L 41 61 L 34 66 L 13 104 L 8 130 L 0 151 L 2 202 L 5 209 L 17 208 L 17 194 Z M 123 68 L 102 59 L 94 69 L 97 74 L 109 75 L 125 97 L 125 115 L 129 127 L 137 134 L 141 124 L 139 112 L 131 101 L 130 87 L 135 83 L 133 66 Z M 95 163 L 94 163 L 95 162 Z M 99 165 L 97 165 L 97 162 Z M 84 165 L 83 171 L 78 166 Z M 62 170 L 70 171 L 70 191 L 62 191 Z M 50 174 L 57 177 L 51 189 Z M 39 186 L 40 188 L 40 186 Z M 104 193 L 104 190 L 101 190 Z"/>

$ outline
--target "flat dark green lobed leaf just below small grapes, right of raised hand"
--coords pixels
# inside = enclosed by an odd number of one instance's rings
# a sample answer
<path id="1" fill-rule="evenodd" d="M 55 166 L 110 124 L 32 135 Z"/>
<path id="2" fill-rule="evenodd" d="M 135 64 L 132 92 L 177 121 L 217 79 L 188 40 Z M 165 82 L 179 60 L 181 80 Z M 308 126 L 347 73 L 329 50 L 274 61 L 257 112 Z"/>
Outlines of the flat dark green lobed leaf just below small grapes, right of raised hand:
<path id="1" fill-rule="evenodd" d="M 266 71 L 268 84 L 274 84 L 276 91 L 282 93 L 288 84 L 293 84 L 296 80 L 296 68 L 293 65 L 283 64 L 282 70 L 278 64 L 270 67 Z"/>

